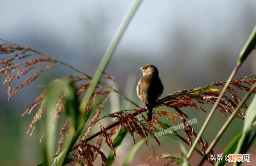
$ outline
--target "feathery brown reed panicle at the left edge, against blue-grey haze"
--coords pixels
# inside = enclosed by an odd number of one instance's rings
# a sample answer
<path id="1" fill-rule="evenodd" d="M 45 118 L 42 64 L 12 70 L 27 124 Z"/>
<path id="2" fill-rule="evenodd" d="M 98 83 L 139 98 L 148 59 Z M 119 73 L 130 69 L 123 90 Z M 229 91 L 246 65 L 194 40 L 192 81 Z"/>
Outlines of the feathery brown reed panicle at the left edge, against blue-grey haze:
<path id="1" fill-rule="evenodd" d="M 51 58 L 31 58 L 36 54 L 30 53 L 30 48 L 28 47 L 21 47 L 16 46 L 14 44 L 0 44 L 0 54 L 3 55 L 2 60 L 0 60 L 0 77 L 3 74 L 8 73 L 6 79 L 4 80 L 3 84 L 8 83 L 8 100 L 18 92 L 24 86 L 28 86 L 31 82 L 36 80 L 42 72 L 45 70 L 49 70 L 55 66 L 55 61 Z M 6 56 L 8 55 L 8 56 Z M 26 60 L 26 58 L 29 58 Z M 46 66 L 44 69 L 36 70 L 32 75 L 28 76 L 26 80 L 13 88 L 11 92 L 11 81 L 16 77 L 18 80 L 21 76 L 28 74 L 29 71 L 34 69 L 37 64 L 48 62 L 51 63 L 50 66 Z"/>

